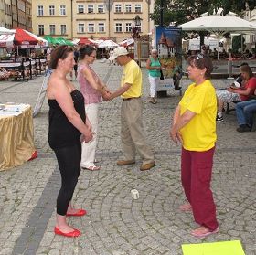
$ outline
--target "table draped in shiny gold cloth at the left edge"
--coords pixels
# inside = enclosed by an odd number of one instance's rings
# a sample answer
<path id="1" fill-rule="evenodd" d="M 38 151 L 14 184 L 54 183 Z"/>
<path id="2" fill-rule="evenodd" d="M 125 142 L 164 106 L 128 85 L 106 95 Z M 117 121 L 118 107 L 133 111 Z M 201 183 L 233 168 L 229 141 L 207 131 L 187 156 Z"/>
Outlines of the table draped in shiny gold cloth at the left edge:
<path id="1" fill-rule="evenodd" d="M 22 165 L 36 151 L 31 107 L 20 109 L 17 116 L 0 114 L 0 171 Z"/>

